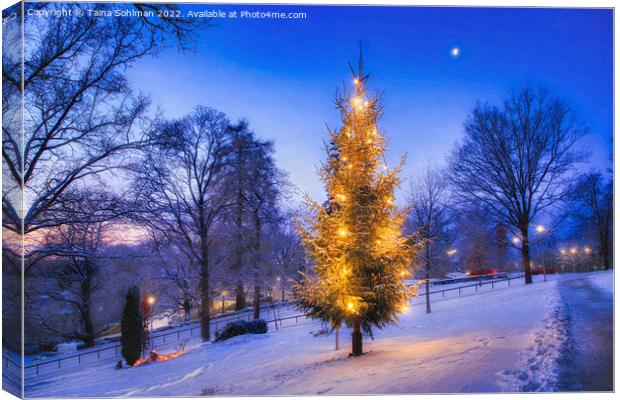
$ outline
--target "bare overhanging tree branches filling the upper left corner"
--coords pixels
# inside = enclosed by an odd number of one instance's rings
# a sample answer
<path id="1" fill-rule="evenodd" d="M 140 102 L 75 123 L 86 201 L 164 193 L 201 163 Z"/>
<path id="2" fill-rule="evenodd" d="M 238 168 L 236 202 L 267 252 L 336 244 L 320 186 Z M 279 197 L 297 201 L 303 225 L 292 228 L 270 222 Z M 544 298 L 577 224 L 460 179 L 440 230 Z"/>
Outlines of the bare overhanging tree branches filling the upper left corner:
<path id="1" fill-rule="evenodd" d="M 51 11 L 81 6 L 40 3 L 34 7 Z M 92 8 L 111 7 L 95 4 Z M 121 155 L 144 143 L 145 137 L 135 128 L 145 123 L 142 118 L 149 102 L 131 93 L 124 69 L 166 46 L 186 48 L 195 28 L 203 24 L 76 13 L 29 18 L 27 23 L 23 80 L 21 59 L 17 65 L 5 65 L 11 59 L 4 59 L 2 70 L 5 90 L 24 99 L 23 131 L 3 129 L 2 156 L 8 176 L 24 193 L 25 204 L 22 213 L 20 204 L 3 196 L 3 226 L 25 233 L 73 218 L 60 205 L 67 190 L 122 166 Z M 19 145 L 22 133 L 23 147 Z"/>

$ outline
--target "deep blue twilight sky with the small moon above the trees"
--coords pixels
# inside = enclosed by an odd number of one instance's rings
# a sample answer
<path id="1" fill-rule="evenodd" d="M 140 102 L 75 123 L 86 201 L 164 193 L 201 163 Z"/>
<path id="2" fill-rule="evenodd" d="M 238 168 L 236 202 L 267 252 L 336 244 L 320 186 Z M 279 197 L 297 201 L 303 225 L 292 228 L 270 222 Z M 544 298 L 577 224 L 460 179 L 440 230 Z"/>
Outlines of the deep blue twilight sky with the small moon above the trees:
<path id="1" fill-rule="evenodd" d="M 364 47 L 370 91 L 383 92 L 387 159 L 407 154 L 403 176 L 445 156 L 476 101 L 542 85 L 590 128 L 583 169 L 611 167 L 613 16 L 603 9 L 192 5 L 187 10 L 306 12 L 306 19 L 219 19 L 196 54 L 168 51 L 129 71 L 168 117 L 198 104 L 247 118 L 272 139 L 278 165 L 316 199 L 325 124 L 351 82 L 347 63 Z M 460 55 L 453 57 L 451 49 Z M 405 184 L 406 186 L 406 184 Z"/>

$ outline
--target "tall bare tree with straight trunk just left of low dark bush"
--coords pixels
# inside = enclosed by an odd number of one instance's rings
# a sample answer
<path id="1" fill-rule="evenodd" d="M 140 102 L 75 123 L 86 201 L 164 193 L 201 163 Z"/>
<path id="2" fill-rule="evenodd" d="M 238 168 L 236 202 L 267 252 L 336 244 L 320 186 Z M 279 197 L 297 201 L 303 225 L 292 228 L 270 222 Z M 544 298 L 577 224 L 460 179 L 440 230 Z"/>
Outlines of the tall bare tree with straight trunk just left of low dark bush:
<path id="1" fill-rule="evenodd" d="M 223 185 L 229 122 L 197 107 L 189 116 L 162 123 L 135 167 L 136 220 L 174 242 L 200 276 L 200 323 L 210 339 L 210 238 L 226 205 Z"/>

